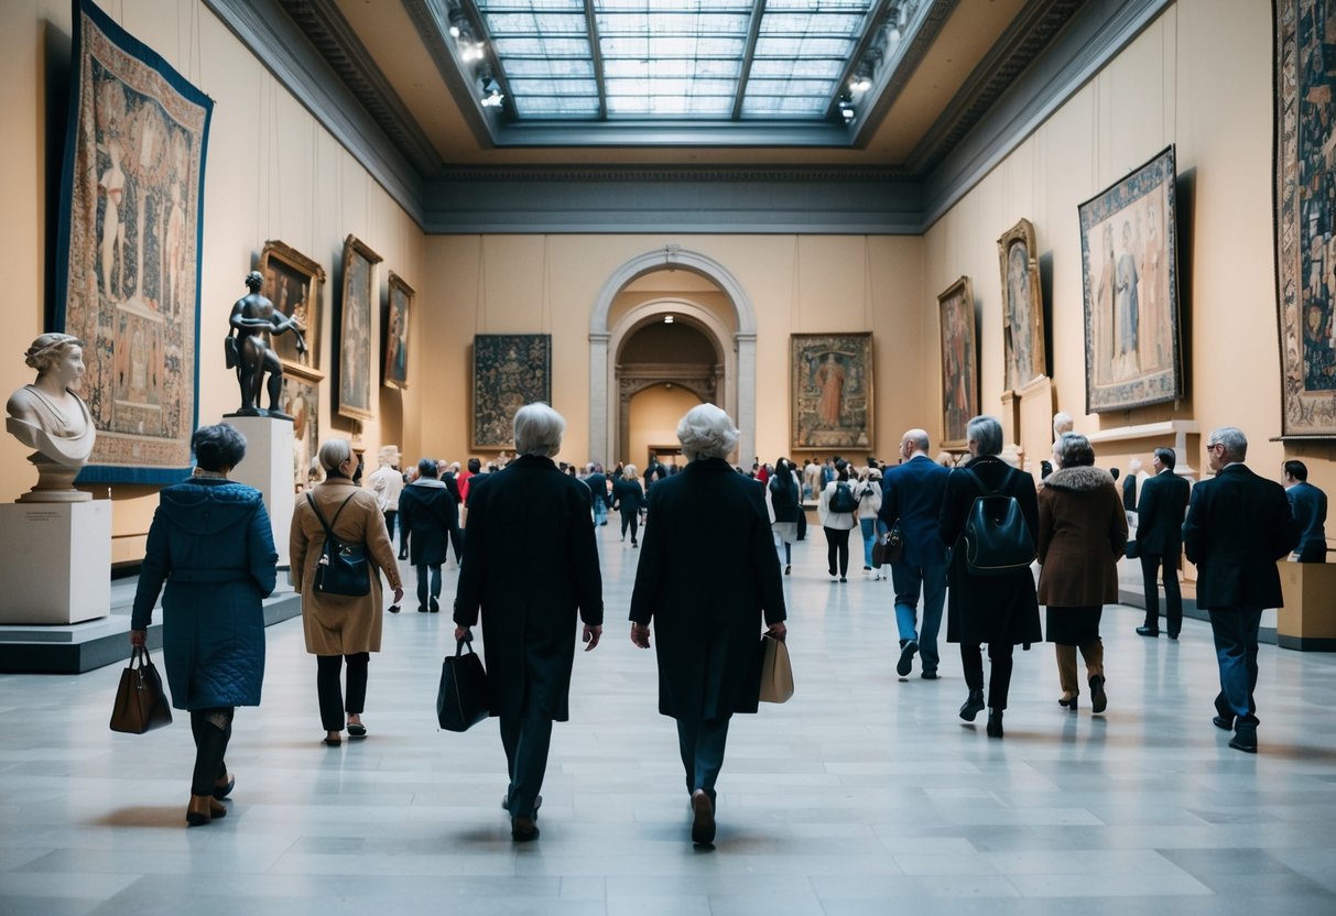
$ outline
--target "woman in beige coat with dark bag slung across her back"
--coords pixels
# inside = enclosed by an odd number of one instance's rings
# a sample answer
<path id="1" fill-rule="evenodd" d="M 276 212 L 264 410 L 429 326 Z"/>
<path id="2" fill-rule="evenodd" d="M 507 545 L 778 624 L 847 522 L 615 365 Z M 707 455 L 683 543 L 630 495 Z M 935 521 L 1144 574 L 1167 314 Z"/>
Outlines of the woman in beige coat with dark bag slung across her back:
<path id="1" fill-rule="evenodd" d="M 330 439 L 321 446 L 325 482 L 310 490 L 334 535 L 347 545 L 365 545 L 371 566 L 371 590 L 359 597 L 321 594 L 315 592 L 315 566 L 325 546 L 325 526 L 305 497 L 297 501 L 289 553 L 293 563 L 293 588 L 302 596 L 302 621 L 306 628 L 306 650 L 315 656 L 315 693 L 325 724 L 325 744 L 342 744 L 343 710 L 347 710 L 347 737 L 365 738 L 362 708 L 366 702 L 366 666 L 373 652 L 381 650 L 381 577 L 379 569 L 394 589 L 394 604 L 403 600 L 399 567 L 385 527 L 385 517 L 375 494 L 357 481 L 362 465 L 347 439 Z M 337 518 L 335 518 L 337 517 Z M 341 690 L 341 669 L 347 661 L 347 696 Z"/>

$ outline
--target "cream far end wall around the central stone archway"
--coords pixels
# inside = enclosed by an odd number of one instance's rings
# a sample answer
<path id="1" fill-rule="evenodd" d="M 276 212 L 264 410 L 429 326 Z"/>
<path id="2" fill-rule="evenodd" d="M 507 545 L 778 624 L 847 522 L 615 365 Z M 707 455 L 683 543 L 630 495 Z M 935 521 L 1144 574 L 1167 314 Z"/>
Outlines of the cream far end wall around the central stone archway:
<path id="1" fill-rule="evenodd" d="M 442 397 L 426 407 L 424 437 L 434 454 L 462 459 L 469 443 L 469 347 L 474 334 L 553 336 L 553 406 L 566 418 L 561 458 L 584 463 L 589 430 L 589 316 L 609 276 L 627 262 L 667 244 L 699 251 L 737 279 L 758 315 L 756 447 L 774 461 L 790 453 L 790 334 L 875 332 L 875 435 L 882 453 L 900 433 L 937 417 L 937 375 L 918 351 L 935 318 L 925 303 L 922 243 L 903 236 L 792 235 L 556 235 L 430 236 L 428 288 L 440 291 L 422 312 L 433 342 L 425 387 Z M 648 299 L 669 298 L 671 274 L 653 275 L 619 296 L 609 322 Z M 683 299 L 724 308 L 693 275 Z M 736 326 L 736 322 L 731 322 Z M 724 342 L 732 346 L 731 340 Z M 934 345 L 935 346 L 935 345 Z M 934 370 L 935 371 L 935 370 Z M 939 413 L 939 411 L 938 411 Z M 411 423 L 410 423 L 411 426 Z"/>

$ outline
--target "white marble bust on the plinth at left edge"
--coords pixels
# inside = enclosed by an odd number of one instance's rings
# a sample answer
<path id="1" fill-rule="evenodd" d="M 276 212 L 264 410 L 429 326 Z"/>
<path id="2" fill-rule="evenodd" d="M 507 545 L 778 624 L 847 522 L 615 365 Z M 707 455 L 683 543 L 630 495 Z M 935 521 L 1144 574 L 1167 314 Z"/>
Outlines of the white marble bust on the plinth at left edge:
<path id="1" fill-rule="evenodd" d="M 5 430 L 36 450 L 28 461 L 37 467 L 37 485 L 19 502 L 91 499 L 73 489 L 98 438 L 88 405 L 73 393 L 84 374 L 83 340 L 43 334 L 28 347 L 24 362 L 37 370 L 37 378 L 9 395 Z"/>

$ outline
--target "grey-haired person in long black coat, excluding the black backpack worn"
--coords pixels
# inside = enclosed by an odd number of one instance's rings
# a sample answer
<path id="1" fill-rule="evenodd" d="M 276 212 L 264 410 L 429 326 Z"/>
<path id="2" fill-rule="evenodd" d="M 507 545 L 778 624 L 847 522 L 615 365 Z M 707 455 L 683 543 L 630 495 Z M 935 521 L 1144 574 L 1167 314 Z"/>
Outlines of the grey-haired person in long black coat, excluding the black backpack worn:
<path id="1" fill-rule="evenodd" d="M 969 561 L 966 527 L 978 497 L 997 494 L 1015 501 L 1029 529 L 1033 558 L 1034 533 L 1039 530 L 1039 503 L 1034 478 L 998 458 L 1002 451 L 1002 423 L 995 417 L 975 417 L 966 426 L 970 461 L 951 471 L 942 498 L 938 527 L 942 539 L 954 545 L 947 571 L 947 642 L 961 644 L 961 665 L 970 696 L 961 705 L 961 718 L 973 722 L 989 709 L 989 737 L 1002 737 L 1002 712 L 1011 686 L 1011 653 L 1017 645 L 1029 648 L 1043 638 L 1034 576 L 1029 565 L 1014 571 L 987 573 Z M 987 700 L 983 693 L 983 654 L 989 644 Z"/>

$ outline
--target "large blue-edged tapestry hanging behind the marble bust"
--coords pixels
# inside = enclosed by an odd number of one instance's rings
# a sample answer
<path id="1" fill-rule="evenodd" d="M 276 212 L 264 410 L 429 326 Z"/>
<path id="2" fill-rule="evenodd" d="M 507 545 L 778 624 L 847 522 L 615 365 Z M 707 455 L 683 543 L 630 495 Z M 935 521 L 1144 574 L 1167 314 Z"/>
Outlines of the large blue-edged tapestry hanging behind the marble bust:
<path id="1" fill-rule="evenodd" d="M 198 414 L 199 262 L 212 100 L 80 0 L 55 326 L 84 340 L 98 445 L 80 483 L 170 483 Z"/>

